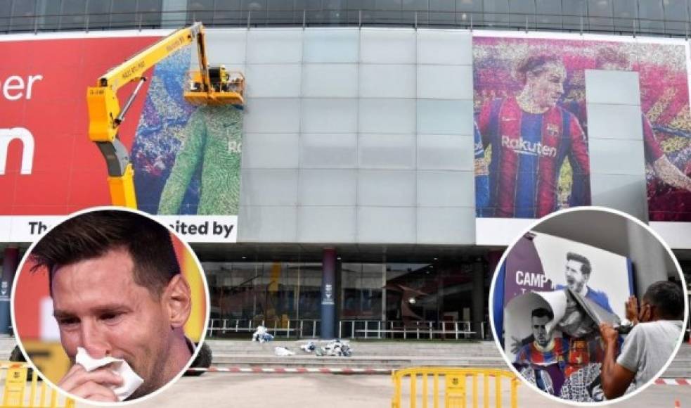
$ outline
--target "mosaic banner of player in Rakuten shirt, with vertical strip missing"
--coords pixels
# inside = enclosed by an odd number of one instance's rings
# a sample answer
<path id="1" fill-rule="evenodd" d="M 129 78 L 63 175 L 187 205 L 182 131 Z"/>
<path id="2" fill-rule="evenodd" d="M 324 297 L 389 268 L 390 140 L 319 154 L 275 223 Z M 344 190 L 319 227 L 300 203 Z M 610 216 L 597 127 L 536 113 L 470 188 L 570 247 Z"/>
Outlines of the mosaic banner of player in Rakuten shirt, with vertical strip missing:
<path id="1" fill-rule="evenodd" d="M 691 221 L 683 44 L 473 38 L 478 217 L 590 205 L 585 70 L 639 72 L 650 219 Z"/>

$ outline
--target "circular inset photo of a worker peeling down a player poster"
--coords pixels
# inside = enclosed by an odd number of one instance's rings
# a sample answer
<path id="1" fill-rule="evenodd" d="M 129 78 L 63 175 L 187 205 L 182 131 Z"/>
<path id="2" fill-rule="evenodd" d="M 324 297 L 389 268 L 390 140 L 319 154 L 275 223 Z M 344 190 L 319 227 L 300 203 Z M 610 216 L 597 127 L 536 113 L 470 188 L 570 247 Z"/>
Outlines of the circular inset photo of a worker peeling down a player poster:
<path id="1" fill-rule="evenodd" d="M 525 383 L 587 405 L 623 399 L 660 376 L 682 342 L 686 283 L 647 225 L 607 208 L 534 224 L 494 274 L 491 325 Z"/>

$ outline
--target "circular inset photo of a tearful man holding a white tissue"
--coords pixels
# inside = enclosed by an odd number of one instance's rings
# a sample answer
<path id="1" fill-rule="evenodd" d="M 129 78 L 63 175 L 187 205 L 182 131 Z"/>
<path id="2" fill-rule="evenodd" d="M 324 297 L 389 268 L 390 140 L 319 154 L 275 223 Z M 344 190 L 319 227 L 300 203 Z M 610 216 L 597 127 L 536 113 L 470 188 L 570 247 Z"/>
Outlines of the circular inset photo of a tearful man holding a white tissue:
<path id="1" fill-rule="evenodd" d="M 143 212 L 71 215 L 27 251 L 13 327 L 44 380 L 88 402 L 129 402 L 181 376 L 200 349 L 208 288 L 200 263 Z"/>

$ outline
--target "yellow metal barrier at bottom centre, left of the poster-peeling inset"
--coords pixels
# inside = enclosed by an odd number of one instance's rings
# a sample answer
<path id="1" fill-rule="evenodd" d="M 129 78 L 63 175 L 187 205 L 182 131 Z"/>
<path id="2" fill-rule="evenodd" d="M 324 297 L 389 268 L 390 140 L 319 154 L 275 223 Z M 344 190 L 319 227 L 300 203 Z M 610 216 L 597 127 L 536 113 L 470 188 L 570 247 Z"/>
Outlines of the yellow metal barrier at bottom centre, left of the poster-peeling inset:
<path id="1" fill-rule="evenodd" d="M 404 383 L 403 378 L 409 378 Z M 431 377 L 431 378 L 430 378 Z M 499 369 L 472 369 L 454 367 L 409 367 L 407 369 L 396 370 L 392 373 L 394 381 L 394 397 L 392 398 L 392 408 L 478 408 L 479 397 L 482 395 L 482 407 L 501 408 L 503 402 L 502 381 L 508 380 L 510 395 L 508 400 L 511 408 L 518 407 L 518 384 L 519 379 L 508 370 Z M 432 393 L 430 394 L 430 381 L 432 382 Z M 482 393 L 478 383 L 482 381 Z M 407 387 L 404 385 L 408 384 Z M 490 391 L 490 383 L 493 383 L 493 398 Z M 421 393 L 418 395 L 418 385 L 422 386 Z M 406 388 L 406 389 L 404 389 Z M 443 390 L 444 405 L 440 405 L 441 388 Z M 408 391 L 410 397 L 409 405 L 401 405 L 404 391 Z M 490 405 L 490 400 L 494 401 Z M 430 404 L 430 401 L 432 404 Z M 468 404 L 470 402 L 470 404 Z"/>

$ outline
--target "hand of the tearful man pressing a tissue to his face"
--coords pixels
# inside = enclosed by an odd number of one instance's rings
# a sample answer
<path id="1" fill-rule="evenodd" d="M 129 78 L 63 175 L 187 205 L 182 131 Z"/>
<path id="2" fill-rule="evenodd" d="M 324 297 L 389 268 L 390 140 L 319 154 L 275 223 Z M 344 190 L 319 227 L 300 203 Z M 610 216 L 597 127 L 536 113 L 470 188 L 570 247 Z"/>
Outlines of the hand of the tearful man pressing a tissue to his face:
<path id="1" fill-rule="evenodd" d="M 110 389 L 111 385 L 122 385 L 122 377 L 110 371 L 108 366 L 87 372 L 80 364 L 72 366 L 58 383 L 58 387 L 67 393 L 86 400 L 119 402 L 117 395 Z"/>

